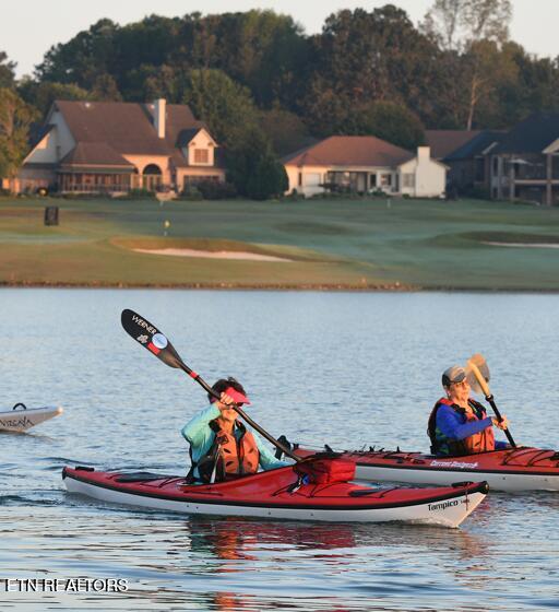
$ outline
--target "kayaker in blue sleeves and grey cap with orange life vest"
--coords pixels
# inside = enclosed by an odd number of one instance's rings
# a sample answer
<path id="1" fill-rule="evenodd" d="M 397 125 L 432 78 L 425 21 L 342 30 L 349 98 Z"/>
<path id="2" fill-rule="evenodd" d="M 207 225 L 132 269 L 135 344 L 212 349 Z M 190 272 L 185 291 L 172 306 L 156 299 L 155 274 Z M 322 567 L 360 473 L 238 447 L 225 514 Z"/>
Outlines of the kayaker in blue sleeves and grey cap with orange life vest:
<path id="1" fill-rule="evenodd" d="M 487 416 L 485 407 L 469 397 L 469 382 L 463 367 L 455 365 L 445 369 L 442 387 L 447 397 L 435 404 L 427 428 L 433 455 L 474 455 L 507 448 L 507 443 L 495 440 L 492 431 L 492 426 L 506 429 L 507 416 L 502 421 Z"/>

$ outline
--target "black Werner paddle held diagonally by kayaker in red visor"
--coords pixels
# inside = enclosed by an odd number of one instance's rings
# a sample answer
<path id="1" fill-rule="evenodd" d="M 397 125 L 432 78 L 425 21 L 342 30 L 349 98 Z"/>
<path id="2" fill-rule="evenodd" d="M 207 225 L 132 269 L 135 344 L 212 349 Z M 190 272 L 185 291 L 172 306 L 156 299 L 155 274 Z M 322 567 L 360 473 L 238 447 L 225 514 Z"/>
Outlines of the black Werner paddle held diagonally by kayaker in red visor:
<path id="1" fill-rule="evenodd" d="M 167 337 L 163 334 L 154 325 L 146 321 L 140 315 L 136 315 L 133 310 L 128 308 L 122 310 L 120 317 L 122 327 L 124 330 L 142 346 L 147 349 L 156 357 L 158 357 L 163 363 L 170 367 L 176 367 L 186 372 L 193 380 L 195 380 L 205 391 L 212 395 L 216 400 L 219 399 L 219 393 L 215 392 L 212 387 L 194 370 L 192 370 L 188 365 L 180 358 L 177 351 L 173 344 L 168 341 Z M 300 457 L 294 455 L 288 448 L 286 448 L 282 443 L 276 440 L 272 435 L 270 435 L 265 429 L 263 429 L 258 423 L 254 423 L 250 416 L 248 416 L 241 408 L 236 403 L 233 408 L 237 411 L 239 416 L 245 419 L 245 421 L 251 425 L 259 434 L 272 443 L 277 449 L 284 452 L 287 457 L 295 459 L 295 461 L 301 461 Z"/>

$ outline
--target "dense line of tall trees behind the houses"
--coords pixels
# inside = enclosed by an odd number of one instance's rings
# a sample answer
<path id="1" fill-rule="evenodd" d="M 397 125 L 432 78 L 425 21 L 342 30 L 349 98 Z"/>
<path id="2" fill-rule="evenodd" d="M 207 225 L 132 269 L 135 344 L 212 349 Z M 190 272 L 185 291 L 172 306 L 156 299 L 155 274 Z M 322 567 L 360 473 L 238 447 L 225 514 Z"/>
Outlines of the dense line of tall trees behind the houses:
<path id="1" fill-rule="evenodd" d="M 16 81 L 0 55 L 0 170 L 14 99 L 23 131 L 57 98 L 188 104 L 231 158 L 251 146 L 269 174 L 275 157 L 331 134 L 413 149 L 426 128 L 504 129 L 559 110 L 559 57 L 511 40 L 511 16 L 510 0 L 435 0 L 414 25 L 386 4 L 338 11 L 316 35 L 273 11 L 104 19 L 52 46 L 33 76 Z"/>

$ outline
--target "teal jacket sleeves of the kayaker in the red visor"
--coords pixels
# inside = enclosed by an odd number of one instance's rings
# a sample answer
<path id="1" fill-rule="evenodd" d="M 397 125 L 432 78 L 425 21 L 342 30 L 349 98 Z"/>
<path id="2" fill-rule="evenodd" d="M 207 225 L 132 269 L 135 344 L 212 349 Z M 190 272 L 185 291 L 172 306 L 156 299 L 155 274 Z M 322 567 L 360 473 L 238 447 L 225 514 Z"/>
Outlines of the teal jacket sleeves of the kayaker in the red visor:
<path id="1" fill-rule="evenodd" d="M 210 427 L 210 422 L 219 416 L 219 409 L 215 404 L 210 404 L 204 410 L 195 414 L 181 431 L 182 436 L 190 443 L 190 455 L 193 463 L 198 463 L 204 455 L 212 448 L 215 439 L 215 433 Z M 235 435 L 238 435 L 235 429 Z M 276 459 L 272 452 L 264 446 L 262 439 L 255 432 L 251 432 L 254 436 L 258 450 L 260 454 L 260 467 L 263 470 L 273 470 L 275 468 L 283 468 L 288 466 L 285 461 Z M 198 468 L 194 468 L 194 478 L 200 478 Z"/>

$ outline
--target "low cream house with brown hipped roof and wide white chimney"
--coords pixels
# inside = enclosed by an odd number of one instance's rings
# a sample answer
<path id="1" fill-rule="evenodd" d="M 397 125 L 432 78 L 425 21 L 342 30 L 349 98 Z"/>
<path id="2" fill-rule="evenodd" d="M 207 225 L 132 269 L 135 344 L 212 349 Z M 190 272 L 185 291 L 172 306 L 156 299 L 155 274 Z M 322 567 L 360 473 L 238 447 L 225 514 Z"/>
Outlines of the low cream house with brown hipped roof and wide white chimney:
<path id="1" fill-rule="evenodd" d="M 288 193 L 384 191 L 411 197 L 444 193 L 447 167 L 428 146 L 416 153 L 372 136 L 332 136 L 282 160 Z"/>

